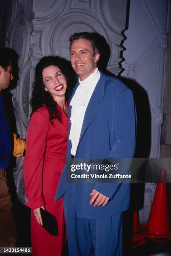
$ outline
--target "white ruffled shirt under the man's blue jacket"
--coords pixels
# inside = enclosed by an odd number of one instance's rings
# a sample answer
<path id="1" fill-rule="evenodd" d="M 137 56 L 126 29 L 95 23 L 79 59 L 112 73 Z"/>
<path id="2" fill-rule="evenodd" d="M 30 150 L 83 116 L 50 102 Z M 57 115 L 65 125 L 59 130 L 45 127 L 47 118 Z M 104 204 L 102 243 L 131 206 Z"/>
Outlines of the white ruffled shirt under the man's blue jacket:
<path id="1" fill-rule="evenodd" d="M 75 91 L 75 94 L 69 104 L 70 106 L 72 106 L 70 118 L 71 130 L 69 133 L 69 140 L 71 140 L 71 155 L 73 156 L 75 156 L 77 151 L 87 105 L 90 98 L 92 97 L 92 93 L 99 79 L 100 72 L 98 68 L 96 68 L 94 72 L 83 81 L 80 81 L 79 79 L 79 86 L 77 87 L 77 90 Z"/>

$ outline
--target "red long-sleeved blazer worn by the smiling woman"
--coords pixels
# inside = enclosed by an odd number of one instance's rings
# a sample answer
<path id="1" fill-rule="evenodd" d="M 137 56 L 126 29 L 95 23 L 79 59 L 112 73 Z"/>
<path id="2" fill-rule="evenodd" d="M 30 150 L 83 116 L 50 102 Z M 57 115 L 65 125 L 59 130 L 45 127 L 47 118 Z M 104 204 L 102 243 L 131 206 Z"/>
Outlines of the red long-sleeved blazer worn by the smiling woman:
<path id="1" fill-rule="evenodd" d="M 33 113 L 27 133 L 27 152 L 23 163 L 25 204 L 36 209 L 45 205 L 43 195 L 55 196 L 56 188 L 66 161 L 68 117 L 61 111 L 62 122 L 49 121 L 45 106 Z"/>

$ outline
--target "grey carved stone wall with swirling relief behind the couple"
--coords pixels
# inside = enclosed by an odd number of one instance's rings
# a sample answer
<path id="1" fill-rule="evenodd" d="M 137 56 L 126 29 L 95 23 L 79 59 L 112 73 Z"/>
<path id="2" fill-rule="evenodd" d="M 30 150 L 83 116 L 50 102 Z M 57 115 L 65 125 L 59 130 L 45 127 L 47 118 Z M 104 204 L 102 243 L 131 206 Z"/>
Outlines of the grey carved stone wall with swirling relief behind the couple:
<path id="1" fill-rule="evenodd" d="M 25 138 L 31 114 L 29 104 L 34 67 L 42 56 L 69 56 L 69 36 L 80 31 L 97 32 L 104 36 L 111 49 L 108 69 L 120 72 L 120 46 L 125 29 L 125 3 L 121 0 L 10 0 L 8 45 L 20 56 L 18 85 L 13 90 L 17 130 Z M 118 2 L 118 1 L 117 1 Z M 121 6 L 123 3 L 124 6 Z M 118 7 L 119 6 L 119 7 Z M 121 8 L 122 7 L 122 8 Z M 115 10 L 115 8 L 117 8 Z M 117 11 L 118 10 L 118 11 Z M 109 17 L 107 16 L 109 15 Z M 120 23 L 120 24 L 119 24 Z M 17 159 L 14 178 L 17 192 L 24 201 L 23 158 Z"/>

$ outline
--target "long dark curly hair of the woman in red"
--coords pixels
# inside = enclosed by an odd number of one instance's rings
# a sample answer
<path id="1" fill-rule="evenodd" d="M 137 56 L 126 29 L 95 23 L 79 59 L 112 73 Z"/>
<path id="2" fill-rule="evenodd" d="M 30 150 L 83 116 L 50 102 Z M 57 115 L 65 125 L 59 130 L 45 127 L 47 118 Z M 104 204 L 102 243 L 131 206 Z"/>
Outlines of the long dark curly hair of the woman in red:
<path id="1" fill-rule="evenodd" d="M 49 121 L 54 126 L 53 119 L 58 119 L 62 123 L 61 111 L 57 110 L 57 103 L 53 99 L 52 95 L 44 90 L 45 85 L 43 83 L 42 71 L 44 68 L 49 66 L 58 67 L 62 74 L 66 78 L 67 89 L 69 88 L 69 73 L 65 65 L 65 60 L 57 56 L 46 56 L 40 59 L 35 69 L 35 80 L 33 83 L 33 92 L 31 98 L 32 114 L 41 108 L 43 105 L 46 106 L 49 113 Z M 67 92 L 66 92 L 67 93 Z M 31 115 L 32 115 L 31 114 Z"/>

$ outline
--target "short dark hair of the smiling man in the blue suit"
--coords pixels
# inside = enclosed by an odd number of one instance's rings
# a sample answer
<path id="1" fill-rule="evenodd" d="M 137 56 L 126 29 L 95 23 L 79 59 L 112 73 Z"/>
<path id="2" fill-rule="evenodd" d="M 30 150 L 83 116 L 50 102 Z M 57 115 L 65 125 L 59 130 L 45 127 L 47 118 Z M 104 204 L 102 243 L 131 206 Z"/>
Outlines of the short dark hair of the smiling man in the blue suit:
<path id="1" fill-rule="evenodd" d="M 99 53 L 99 49 L 96 44 L 96 38 L 94 37 L 94 33 L 89 33 L 89 32 L 74 33 L 69 37 L 69 41 L 70 41 L 69 49 L 71 48 L 71 44 L 73 43 L 73 41 L 78 39 L 86 39 L 91 42 L 92 49 L 93 49 L 93 56 Z"/>

